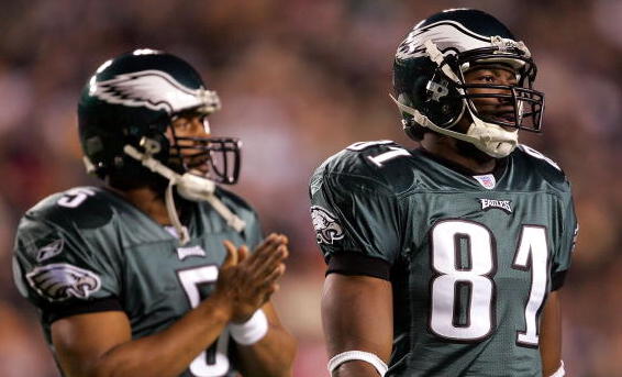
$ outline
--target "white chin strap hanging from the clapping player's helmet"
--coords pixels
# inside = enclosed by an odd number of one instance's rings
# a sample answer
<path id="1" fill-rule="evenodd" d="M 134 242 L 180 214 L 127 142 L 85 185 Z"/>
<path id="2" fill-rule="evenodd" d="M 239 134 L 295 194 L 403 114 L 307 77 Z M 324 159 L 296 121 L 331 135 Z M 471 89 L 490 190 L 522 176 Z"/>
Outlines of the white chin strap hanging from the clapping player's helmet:
<path id="1" fill-rule="evenodd" d="M 177 192 L 185 199 L 191 201 L 207 201 L 212 208 L 226 221 L 226 224 L 233 228 L 236 232 L 242 232 L 246 223 L 240 219 L 214 195 L 215 184 L 210 179 L 199 177 L 197 175 L 186 173 L 179 175 L 153 158 L 149 154 L 141 153 L 138 149 L 127 144 L 123 147 L 123 152 L 130 157 L 138 160 L 143 166 L 149 170 L 159 174 L 168 179 L 168 187 L 165 193 L 166 211 L 168 219 L 179 236 L 179 243 L 185 245 L 190 241 L 188 229 L 181 225 L 177 209 L 175 208 L 175 199 L 173 198 L 173 187 L 177 186 Z"/>

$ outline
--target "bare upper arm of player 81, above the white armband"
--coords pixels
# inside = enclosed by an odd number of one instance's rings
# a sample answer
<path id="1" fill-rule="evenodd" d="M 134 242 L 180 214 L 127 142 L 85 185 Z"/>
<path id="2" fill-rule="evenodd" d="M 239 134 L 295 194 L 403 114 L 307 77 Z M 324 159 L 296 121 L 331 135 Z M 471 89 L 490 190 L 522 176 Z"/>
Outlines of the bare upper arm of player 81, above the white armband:
<path id="1" fill-rule="evenodd" d="M 393 331 L 391 284 L 369 276 L 329 274 L 322 295 L 322 322 L 329 357 L 364 351 L 387 363 Z M 347 364 L 340 368 L 347 368 Z"/>

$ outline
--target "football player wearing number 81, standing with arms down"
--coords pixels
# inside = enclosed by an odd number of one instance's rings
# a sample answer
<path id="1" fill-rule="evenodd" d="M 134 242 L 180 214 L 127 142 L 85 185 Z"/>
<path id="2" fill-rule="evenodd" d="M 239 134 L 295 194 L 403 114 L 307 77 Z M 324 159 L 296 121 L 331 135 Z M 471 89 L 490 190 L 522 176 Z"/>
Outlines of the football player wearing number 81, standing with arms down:
<path id="1" fill-rule="evenodd" d="M 434 14 L 398 46 L 393 100 L 420 146 L 353 144 L 310 184 L 333 377 L 564 375 L 577 223 L 563 171 L 518 143 L 541 131 L 535 76 L 478 10 Z"/>

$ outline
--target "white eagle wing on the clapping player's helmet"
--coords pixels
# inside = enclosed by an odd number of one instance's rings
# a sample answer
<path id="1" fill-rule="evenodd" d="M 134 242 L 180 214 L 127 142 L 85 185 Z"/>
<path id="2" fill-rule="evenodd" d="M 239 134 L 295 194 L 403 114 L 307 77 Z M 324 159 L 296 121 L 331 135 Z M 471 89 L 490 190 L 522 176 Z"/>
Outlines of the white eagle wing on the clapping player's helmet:
<path id="1" fill-rule="evenodd" d="M 191 89 L 162 70 L 148 69 L 123 74 L 90 87 L 91 96 L 126 107 L 146 107 L 171 114 L 199 106 L 206 111 L 220 109 L 218 95 L 203 88 Z"/>

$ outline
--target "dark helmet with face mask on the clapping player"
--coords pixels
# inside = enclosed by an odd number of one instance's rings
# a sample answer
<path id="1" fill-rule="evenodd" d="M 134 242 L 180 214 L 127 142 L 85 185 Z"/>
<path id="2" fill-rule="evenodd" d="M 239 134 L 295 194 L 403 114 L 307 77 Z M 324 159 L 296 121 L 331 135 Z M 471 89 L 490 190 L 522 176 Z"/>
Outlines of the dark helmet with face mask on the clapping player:
<path id="1" fill-rule="evenodd" d="M 100 178 L 111 174 L 134 180 L 154 177 L 124 151 L 130 145 L 178 174 L 192 170 L 188 162 L 207 160 L 210 169 L 206 178 L 235 184 L 240 173 L 237 138 L 177 137 L 171 127 L 176 117 L 207 117 L 220 107 L 215 91 L 207 89 L 200 75 L 179 57 L 136 49 L 110 59 L 86 84 L 78 103 L 87 169 Z M 167 130 L 173 141 L 166 137 Z M 187 148 L 195 155 L 181 158 Z"/>

